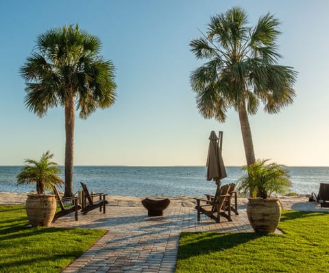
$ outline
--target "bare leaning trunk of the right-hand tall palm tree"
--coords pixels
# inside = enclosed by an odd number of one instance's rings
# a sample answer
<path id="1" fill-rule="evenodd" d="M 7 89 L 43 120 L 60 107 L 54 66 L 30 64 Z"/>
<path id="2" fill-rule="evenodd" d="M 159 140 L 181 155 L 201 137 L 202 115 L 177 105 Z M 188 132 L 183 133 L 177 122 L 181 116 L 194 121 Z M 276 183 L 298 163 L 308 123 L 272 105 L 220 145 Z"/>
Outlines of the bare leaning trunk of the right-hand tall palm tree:
<path id="1" fill-rule="evenodd" d="M 243 145 L 245 147 L 245 158 L 247 159 L 247 165 L 255 163 L 254 144 L 252 143 L 252 130 L 250 130 L 249 119 L 247 110 L 245 108 L 245 101 L 243 101 L 239 107 L 239 119 L 241 126 L 241 133 L 243 139 Z"/>

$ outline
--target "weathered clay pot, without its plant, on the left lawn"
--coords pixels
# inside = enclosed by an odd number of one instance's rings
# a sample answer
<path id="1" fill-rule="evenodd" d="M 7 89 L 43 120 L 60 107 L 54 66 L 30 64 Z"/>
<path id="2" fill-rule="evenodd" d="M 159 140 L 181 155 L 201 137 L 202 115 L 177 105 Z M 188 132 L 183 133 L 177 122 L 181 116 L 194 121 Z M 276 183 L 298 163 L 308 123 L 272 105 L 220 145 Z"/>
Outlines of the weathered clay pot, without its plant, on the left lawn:
<path id="1" fill-rule="evenodd" d="M 56 198 L 53 194 L 28 194 L 26 214 L 32 226 L 49 226 L 56 213 Z"/>

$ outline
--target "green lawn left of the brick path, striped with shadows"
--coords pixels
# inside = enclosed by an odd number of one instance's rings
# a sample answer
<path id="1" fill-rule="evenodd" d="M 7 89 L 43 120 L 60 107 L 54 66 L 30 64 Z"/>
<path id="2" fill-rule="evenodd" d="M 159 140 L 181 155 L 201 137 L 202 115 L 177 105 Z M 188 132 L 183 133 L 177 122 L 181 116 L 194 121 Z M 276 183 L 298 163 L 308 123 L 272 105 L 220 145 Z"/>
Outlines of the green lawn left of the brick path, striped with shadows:
<path id="1" fill-rule="evenodd" d="M 60 272 L 106 233 L 27 224 L 25 206 L 0 206 L 0 272 Z"/>

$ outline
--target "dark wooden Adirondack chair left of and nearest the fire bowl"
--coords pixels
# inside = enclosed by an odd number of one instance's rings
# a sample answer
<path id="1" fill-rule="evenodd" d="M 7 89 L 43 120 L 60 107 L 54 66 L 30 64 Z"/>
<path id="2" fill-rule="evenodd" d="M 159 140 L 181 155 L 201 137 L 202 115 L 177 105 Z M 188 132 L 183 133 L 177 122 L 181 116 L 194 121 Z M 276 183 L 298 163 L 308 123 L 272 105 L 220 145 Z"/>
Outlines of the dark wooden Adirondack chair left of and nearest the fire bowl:
<path id="1" fill-rule="evenodd" d="M 106 213 L 106 204 L 108 204 L 108 201 L 105 200 L 106 193 L 90 194 L 86 184 L 82 182 L 80 182 L 80 184 L 82 185 L 82 189 L 83 189 L 82 212 L 86 214 L 88 213 L 88 211 L 93 211 L 93 209 L 97 209 L 97 208 L 99 208 L 99 211 L 101 211 L 101 208 L 103 207 L 103 213 Z M 94 197 L 97 196 L 99 197 L 99 200 L 94 201 Z"/>

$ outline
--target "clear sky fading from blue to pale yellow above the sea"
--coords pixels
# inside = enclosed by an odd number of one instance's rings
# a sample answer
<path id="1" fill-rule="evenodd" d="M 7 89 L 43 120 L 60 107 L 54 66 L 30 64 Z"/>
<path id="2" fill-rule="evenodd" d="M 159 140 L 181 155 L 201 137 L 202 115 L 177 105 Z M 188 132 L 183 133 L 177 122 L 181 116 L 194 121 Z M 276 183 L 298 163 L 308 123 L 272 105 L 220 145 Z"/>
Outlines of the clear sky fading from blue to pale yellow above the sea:
<path id="1" fill-rule="evenodd" d="M 78 23 L 98 36 L 116 66 L 117 101 L 75 124 L 75 165 L 205 165 L 211 130 L 223 130 L 226 165 L 245 165 L 236 112 L 226 123 L 203 119 L 189 84 L 202 62 L 188 44 L 210 16 L 233 6 L 250 23 L 271 12 L 281 22 L 280 64 L 298 71 L 295 103 L 278 115 L 250 118 L 256 158 L 328 166 L 329 1 L 1 1 L 0 165 L 23 165 L 50 150 L 64 164 L 64 110 L 42 119 L 24 105 L 19 67 L 36 37 Z"/>

